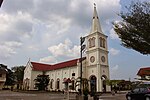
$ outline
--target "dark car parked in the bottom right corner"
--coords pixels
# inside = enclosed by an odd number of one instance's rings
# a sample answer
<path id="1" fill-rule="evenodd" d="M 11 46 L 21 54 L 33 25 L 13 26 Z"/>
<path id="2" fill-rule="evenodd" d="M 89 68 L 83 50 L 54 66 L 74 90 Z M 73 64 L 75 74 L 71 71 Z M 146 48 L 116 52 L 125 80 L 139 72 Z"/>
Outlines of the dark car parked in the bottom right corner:
<path id="1" fill-rule="evenodd" d="M 150 86 L 138 86 L 126 94 L 127 100 L 150 100 Z"/>

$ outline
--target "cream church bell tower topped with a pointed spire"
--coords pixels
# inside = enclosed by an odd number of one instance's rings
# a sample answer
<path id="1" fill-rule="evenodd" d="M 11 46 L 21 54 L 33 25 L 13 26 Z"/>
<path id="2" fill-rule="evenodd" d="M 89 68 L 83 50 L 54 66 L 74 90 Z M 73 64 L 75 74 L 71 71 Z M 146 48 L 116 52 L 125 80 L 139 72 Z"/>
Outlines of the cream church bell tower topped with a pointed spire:
<path id="1" fill-rule="evenodd" d="M 90 33 L 86 36 L 86 78 L 90 80 L 90 90 L 109 91 L 106 80 L 109 79 L 107 36 L 102 32 L 99 17 L 94 5 Z"/>

